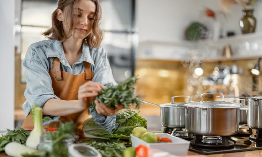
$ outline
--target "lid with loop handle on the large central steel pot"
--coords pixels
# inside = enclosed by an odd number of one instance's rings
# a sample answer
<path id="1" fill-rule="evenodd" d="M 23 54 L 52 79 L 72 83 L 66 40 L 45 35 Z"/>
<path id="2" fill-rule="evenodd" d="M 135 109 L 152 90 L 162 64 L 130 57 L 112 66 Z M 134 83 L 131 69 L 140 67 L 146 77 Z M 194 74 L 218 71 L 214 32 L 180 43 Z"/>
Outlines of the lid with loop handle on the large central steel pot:
<path id="1" fill-rule="evenodd" d="M 206 94 L 221 94 L 222 101 L 204 101 L 203 96 Z M 204 93 L 201 94 L 201 102 L 185 104 L 186 107 L 193 108 L 239 108 L 242 106 L 240 103 L 225 102 L 223 93 Z"/>

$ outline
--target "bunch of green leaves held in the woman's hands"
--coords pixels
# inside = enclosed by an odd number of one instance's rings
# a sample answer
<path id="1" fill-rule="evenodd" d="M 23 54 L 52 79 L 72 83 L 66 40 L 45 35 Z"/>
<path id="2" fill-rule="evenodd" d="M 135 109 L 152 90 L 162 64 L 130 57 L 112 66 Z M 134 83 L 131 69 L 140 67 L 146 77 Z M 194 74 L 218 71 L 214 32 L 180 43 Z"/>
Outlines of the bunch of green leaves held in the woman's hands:
<path id="1" fill-rule="evenodd" d="M 136 108 L 139 108 L 140 101 L 139 98 L 135 96 L 134 84 L 136 81 L 137 76 L 134 76 L 119 83 L 118 86 L 108 84 L 99 92 L 96 100 L 100 102 L 100 105 L 104 103 L 111 109 L 116 109 L 119 104 L 122 104 L 125 109 L 130 109 L 131 105 L 135 105 Z M 95 109 L 94 100 L 92 100 L 90 107 L 92 110 Z"/>

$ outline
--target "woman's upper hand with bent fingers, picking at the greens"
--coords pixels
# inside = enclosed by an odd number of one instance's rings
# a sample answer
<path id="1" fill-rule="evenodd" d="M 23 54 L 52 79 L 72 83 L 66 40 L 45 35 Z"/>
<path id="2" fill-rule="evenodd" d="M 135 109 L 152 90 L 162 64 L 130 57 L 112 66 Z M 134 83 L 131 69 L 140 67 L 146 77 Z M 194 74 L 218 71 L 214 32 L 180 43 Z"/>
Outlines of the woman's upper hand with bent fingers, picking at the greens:
<path id="1" fill-rule="evenodd" d="M 91 100 L 95 99 L 104 86 L 97 82 L 88 81 L 78 89 L 79 108 L 86 110 Z"/>

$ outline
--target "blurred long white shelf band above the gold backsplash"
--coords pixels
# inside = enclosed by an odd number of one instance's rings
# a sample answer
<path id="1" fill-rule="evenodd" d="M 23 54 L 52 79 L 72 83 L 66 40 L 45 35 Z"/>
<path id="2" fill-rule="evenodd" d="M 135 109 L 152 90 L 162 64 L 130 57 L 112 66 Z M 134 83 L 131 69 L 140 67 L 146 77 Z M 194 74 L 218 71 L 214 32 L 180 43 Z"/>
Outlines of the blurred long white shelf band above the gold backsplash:
<path id="1" fill-rule="evenodd" d="M 230 58 L 222 57 L 223 49 L 230 45 Z M 262 32 L 230 36 L 205 41 L 144 41 L 139 43 L 139 60 L 169 61 L 231 61 L 262 57 Z"/>

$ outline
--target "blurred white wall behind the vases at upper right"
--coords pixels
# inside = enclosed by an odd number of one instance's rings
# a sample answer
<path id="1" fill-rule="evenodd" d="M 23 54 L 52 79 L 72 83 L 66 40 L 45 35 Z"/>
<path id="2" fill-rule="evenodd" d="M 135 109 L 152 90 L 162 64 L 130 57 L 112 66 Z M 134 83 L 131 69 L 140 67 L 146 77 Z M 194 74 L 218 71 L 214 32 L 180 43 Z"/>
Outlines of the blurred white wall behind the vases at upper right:
<path id="1" fill-rule="evenodd" d="M 213 20 L 199 17 L 200 12 L 207 6 L 214 11 L 219 10 L 219 0 L 137 0 L 137 18 L 139 41 L 181 41 L 184 31 L 192 21 L 200 21 L 212 30 Z M 262 31 L 262 2 L 255 6 L 254 16 L 257 19 L 256 31 Z M 232 7 L 232 14 L 227 20 L 219 20 L 224 31 L 235 31 L 240 34 L 239 19 L 242 16 L 240 5 Z"/>

